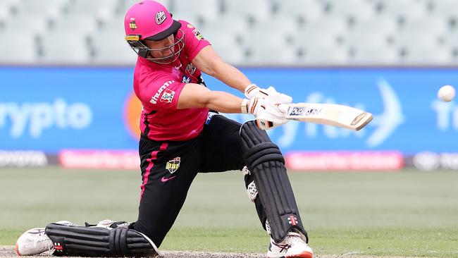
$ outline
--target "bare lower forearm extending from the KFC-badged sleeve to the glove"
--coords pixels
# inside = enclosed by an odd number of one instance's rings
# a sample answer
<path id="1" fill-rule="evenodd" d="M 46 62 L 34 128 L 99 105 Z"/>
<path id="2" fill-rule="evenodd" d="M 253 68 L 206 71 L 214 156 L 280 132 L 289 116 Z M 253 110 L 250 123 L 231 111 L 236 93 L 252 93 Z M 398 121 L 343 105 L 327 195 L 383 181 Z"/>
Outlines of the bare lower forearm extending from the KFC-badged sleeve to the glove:
<path id="1" fill-rule="evenodd" d="M 204 85 L 187 83 L 178 98 L 177 109 L 207 108 L 223 113 L 241 113 L 242 101 L 227 92 L 211 91 Z"/>

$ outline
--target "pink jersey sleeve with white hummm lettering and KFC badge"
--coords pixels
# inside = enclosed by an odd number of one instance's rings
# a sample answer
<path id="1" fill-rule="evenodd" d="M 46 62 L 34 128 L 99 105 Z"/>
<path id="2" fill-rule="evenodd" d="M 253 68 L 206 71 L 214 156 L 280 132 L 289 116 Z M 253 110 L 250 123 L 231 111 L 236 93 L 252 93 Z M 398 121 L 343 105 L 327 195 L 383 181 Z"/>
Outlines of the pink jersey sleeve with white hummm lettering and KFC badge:
<path id="1" fill-rule="evenodd" d="M 185 83 L 168 76 L 160 76 L 147 82 L 138 97 L 147 110 L 176 109 L 183 87 Z"/>

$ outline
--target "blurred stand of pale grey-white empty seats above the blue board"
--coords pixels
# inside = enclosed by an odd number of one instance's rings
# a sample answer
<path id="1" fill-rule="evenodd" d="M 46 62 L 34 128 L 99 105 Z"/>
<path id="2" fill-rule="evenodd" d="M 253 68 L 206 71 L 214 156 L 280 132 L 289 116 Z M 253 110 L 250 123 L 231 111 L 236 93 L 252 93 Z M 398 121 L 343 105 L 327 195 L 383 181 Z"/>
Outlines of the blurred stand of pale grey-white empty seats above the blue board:
<path id="1" fill-rule="evenodd" d="M 236 65 L 458 61 L 457 0 L 159 1 Z M 132 65 L 123 16 L 135 2 L 0 0 L 0 63 Z"/>

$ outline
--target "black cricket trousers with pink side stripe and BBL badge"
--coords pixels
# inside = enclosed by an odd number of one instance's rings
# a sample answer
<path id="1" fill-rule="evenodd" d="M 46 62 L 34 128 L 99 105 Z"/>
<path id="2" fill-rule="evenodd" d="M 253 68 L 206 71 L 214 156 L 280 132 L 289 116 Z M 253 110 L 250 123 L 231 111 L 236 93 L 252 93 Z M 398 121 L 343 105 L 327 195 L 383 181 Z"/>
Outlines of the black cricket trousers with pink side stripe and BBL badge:
<path id="1" fill-rule="evenodd" d="M 142 186 L 138 220 L 132 229 L 147 235 L 159 247 L 185 202 L 197 173 L 242 169 L 245 161 L 240 147 L 240 123 L 214 115 L 202 133 L 183 142 L 140 139 Z M 252 176 L 245 176 L 245 186 Z M 256 211 L 263 227 L 266 214 L 260 198 Z"/>

